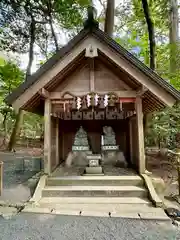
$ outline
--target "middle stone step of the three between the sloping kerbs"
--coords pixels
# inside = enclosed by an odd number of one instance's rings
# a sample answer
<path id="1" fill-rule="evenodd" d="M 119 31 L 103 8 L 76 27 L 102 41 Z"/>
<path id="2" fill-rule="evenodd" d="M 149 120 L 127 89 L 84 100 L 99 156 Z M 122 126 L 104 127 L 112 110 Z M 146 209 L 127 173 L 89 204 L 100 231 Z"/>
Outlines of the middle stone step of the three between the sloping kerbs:
<path id="1" fill-rule="evenodd" d="M 147 190 L 137 186 L 46 186 L 42 197 L 145 197 Z"/>

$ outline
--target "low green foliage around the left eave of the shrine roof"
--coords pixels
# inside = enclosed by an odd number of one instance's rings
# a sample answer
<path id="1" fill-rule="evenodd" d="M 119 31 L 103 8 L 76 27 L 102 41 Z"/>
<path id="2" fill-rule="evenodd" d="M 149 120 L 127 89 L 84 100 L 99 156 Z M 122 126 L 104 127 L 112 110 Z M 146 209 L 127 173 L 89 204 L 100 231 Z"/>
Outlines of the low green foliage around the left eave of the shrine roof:
<path id="1" fill-rule="evenodd" d="M 4 98 L 17 88 L 24 80 L 24 72 L 12 61 L 1 59 L 0 65 L 0 130 L 6 139 L 12 131 L 16 114 L 13 108 L 7 106 Z M 24 115 L 24 124 L 21 129 L 21 136 L 35 138 L 42 134 L 42 117 L 26 113 Z"/>

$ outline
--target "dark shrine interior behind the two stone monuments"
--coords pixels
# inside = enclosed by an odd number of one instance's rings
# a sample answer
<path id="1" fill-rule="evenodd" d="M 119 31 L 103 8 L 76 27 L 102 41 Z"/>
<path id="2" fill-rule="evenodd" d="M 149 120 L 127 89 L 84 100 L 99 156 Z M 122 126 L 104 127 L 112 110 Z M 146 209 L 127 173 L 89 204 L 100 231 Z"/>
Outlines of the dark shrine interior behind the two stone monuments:
<path id="1" fill-rule="evenodd" d="M 80 126 L 87 132 L 90 150 L 94 154 L 101 153 L 101 135 L 103 134 L 104 126 L 111 126 L 115 132 L 116 144 L 120 151 L 125 155 L 129 162 L 129 125 L 128 118 L 122 120 L 60 120 L 60 148 L 62 149 L 63 160 L 66 159 L 69 152 L 72 150 L 74 137 Z"/>

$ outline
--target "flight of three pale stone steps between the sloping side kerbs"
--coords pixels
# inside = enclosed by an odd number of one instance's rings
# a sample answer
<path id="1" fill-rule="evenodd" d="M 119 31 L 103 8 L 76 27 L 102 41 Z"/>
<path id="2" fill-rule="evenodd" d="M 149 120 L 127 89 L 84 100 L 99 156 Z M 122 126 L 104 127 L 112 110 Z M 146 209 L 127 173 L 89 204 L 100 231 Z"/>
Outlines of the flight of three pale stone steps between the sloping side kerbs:
<path id="1" fill-rule="evenodd" d="M 48 177 L 40 202 L 150 204 L 140 176 Z"/>

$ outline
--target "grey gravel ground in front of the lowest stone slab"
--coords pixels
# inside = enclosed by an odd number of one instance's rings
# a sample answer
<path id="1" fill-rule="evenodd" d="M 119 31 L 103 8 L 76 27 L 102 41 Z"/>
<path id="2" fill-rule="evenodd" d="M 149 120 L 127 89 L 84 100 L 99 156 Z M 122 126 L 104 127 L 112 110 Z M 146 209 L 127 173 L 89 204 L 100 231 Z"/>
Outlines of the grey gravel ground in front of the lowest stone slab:
<path id="1" fill-rule="evenodd" d="M 0 218 L 1 240 L 175 240 L 172 224 L 122 218 L 91 218 L 21 213 Z"/>

